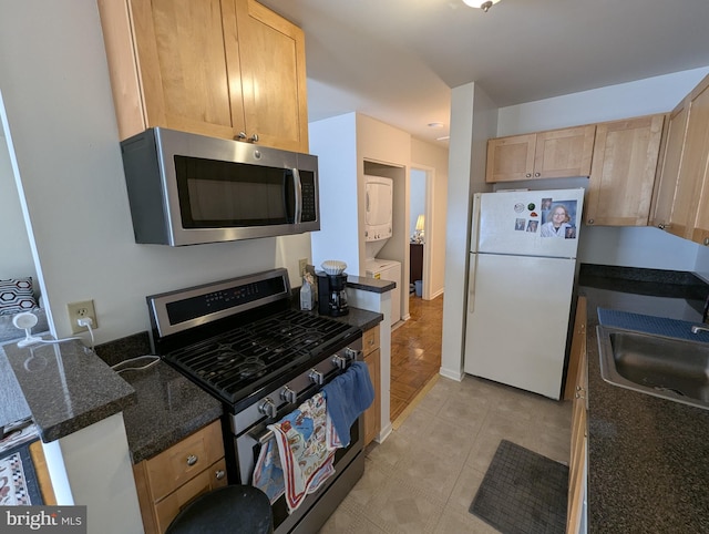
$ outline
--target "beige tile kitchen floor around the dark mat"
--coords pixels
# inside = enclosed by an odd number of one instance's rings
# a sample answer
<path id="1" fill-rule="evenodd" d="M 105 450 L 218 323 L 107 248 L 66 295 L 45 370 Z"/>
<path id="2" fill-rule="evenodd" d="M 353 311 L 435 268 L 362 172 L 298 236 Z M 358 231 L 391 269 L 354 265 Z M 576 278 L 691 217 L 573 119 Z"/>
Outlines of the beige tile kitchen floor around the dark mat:
<path id="1" fill-rule="evenodd" d="M 466 376 L 438 378 L 412 405 L 368 446 L 364 475 L 321 534 L 494 533 L 467 509 L 500 440 L 568 462 L 571 401 Z"/>

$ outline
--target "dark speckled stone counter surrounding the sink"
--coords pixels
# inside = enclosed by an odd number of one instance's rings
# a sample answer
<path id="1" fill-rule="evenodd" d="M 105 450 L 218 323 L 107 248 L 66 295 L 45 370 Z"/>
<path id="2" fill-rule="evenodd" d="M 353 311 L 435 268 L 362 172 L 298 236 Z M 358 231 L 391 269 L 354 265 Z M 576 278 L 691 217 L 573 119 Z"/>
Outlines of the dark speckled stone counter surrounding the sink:
<path id="1" fill-rule="evenodd" d="M 709 410 L 605 382 L 596 336 L 598 307 L 700 322 L 708 291 L 688 273 L 582 268 L 589 532 L 709 532 Z"/>

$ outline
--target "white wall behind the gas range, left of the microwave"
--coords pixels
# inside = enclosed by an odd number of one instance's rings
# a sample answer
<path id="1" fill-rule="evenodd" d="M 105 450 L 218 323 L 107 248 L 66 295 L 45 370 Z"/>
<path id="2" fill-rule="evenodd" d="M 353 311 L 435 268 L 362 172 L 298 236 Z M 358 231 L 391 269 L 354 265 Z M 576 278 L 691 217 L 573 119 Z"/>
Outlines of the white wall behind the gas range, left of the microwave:
<path id="1" fill-rule="evenodd" d="M 0 3 L 0 91 L 58 335 L 75 300 L 104 342 L 148 328 L 147 295 L 276 266 L 297 281 L 309 235 L 135 244 L 95 0 Z"/>

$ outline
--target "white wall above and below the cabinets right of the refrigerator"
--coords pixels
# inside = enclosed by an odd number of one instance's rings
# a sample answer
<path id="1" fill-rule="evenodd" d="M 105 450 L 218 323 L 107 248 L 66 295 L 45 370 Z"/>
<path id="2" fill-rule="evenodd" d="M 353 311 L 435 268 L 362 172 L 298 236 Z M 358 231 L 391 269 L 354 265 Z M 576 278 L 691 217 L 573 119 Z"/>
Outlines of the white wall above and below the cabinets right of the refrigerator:
<path id="1" fill-rule="evenodd" d="M 707 73 L 709 66 L 502 107 L 497 136 L 665 113 Z M 699 248 L 653 227 L 585 226 L 578 257 L 589 264 L 691 271 Z"/>

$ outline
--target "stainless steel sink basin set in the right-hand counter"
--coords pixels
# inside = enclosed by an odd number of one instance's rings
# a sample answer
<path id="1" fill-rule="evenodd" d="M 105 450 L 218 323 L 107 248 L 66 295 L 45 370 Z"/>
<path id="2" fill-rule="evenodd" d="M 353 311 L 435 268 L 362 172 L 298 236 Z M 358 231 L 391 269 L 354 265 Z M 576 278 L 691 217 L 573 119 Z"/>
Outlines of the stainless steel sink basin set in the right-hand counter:
<path id="1" fill-rule="evenodd" d="M 709 410 L 709 343 L 604 325 L 597 333 L 605 381 Z"/>

